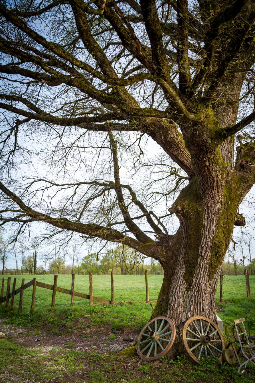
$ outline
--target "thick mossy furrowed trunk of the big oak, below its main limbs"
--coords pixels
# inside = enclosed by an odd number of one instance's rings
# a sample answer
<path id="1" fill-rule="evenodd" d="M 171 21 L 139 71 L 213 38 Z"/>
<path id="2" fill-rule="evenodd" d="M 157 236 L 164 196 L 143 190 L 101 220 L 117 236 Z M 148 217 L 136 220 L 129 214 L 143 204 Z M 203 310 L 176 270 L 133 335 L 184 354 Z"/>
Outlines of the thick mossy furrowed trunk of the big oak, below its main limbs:
<path id="1" fill-rule="evenodd" d="M 170 357 L 183 352 L 182 329 L 192 316 L 216 322 L 215 293 L 221 265 L 231 241 L 242 191 L 232 174 L 209 169 L 208 183 L 194 176 L 169 209 L 180 228 L 164 245 L 164 280 L 153 317 L 169 316 L 176 326 Z M 206 176 L 204 176 L 206 179 Z"/>

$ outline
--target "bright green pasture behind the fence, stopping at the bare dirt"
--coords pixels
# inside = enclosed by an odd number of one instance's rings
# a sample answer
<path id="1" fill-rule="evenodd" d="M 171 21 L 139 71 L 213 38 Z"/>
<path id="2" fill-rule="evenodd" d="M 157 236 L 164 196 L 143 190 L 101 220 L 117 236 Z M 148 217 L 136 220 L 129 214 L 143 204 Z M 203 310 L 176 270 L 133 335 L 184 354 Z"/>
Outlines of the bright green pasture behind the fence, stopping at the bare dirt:
<path id="1" fill-rule="evenodd" d="M 5 277 L 5 290 L 7 277 Z M 11 277 L 11 286 L 13 275 Z M 53 275 L 24 275 L 25 283 L 33 277 L 38 281 L 53 285 Z M 16 288 L 21 285 L 21 275 L 16 276 Z M 157 300 L 161 288 L 163 276 L 149 275 L 149 299 Z M 58 286 L 70 289 L 71 275 L 58 275 Z M 224 324 L 232 325 L 233 320 L 245 317 L 247 326 L 255 332 L 255 276 L 250 277 L 250 290 L 252 298 L 246 298 L 245 277 L 225 276 L 223 279 L 223 303 L 219 303 L 219 286 L 216 293 L 217 314 L 223 319 Z M 75 291 L 89 293 L 89 276 L 75 275 Z M 110 299 L 110 275 L 93 275 L 93 295 L 99 298 Z M 34 315 L 28 315 L 31 305 L 32 287 L 24 291 L 23 312 L 18 314 L 19 295 L 15 296 L 14 312 L 9 312 L 10 321 L 17 324 L 24 321 L 37 321 L 38 317 L 49 321 L 52 316 L 59 316 L 64 311 L 74 311 L 78 316 L 84 312 L 97 312 L 93 319 L 95 324 L 111 322 L 113 329 L 121 329 L 124 326 L 141 326 L 151 315 L 151 306 L 145 304 L 145 278 L 144 276 L 114 275 L 114 302 L 121 304 L 112 306 L 94 303 L 91 307 L 89 301 L 74 297 L 74 306 L 70 306 L 70 295 L 57 292 L 56 306 L 51 307 L 52 291 L 44 288 L 36 288 L 36 302 Z M 133 304 L 130 304 L 132 302 Z M 5 316 L 4 305 L 0 308 L 0 316 Z"/>

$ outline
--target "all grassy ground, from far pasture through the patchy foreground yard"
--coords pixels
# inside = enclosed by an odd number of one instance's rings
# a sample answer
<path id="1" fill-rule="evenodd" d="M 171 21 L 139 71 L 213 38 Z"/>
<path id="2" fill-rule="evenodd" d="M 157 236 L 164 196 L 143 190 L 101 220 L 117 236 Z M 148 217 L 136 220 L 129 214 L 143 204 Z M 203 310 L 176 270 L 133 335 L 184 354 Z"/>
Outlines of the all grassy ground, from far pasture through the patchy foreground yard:
<path id="1" fill-rule="evenodd" d="M 7 277 L 8 275 L 5 276 L 5 291 Z M 25 275 L 25 283 L 33 277 Z M 39 282 L 53 284 L 53 275 L 35 277 Z M 13 278 L 12 275 L 11 287 Z M 18 288 L 22 276 L 18 275 L 16 278 Z M 162 276 L 149 275 L 149 298 L 153 304 L 157 299 L 162 280 Z M 71 276 L 58 275 L 58 286 L 70 289 Z M 246 298 L 243 276 L 224 277 L 223 303 L 220 304 L 218 288 L 217 313 L 229 330 L 233 326 L 234 319 L 244 316 L 247 328 L 255 334 L 255 276 L 250 277 L 250 290 L 252 298 Z M 75 276 L 75 291 L 89 293 L 88 275 Z M 110 299 L 110 276 L 93 276 L 93 295 Z M 120 339 L 119 331 L 124 326 L 137 326 L 139 331 L 151 316 L 152 308 L 145 303 L 144 276 L 114 275 L 114 301 L 119 302 L 114 306 L 99 303 L 89 306 L 89 300 L 74 297 L 74 306 L 71 307 L 70 295 L 57 292 L 56 306 L 52 308 L 52 291 L 37 287 L 34 313 L 29 314 L 31 297 L 32 287 L 29 287 L 24 291 L 21 314 L 18 313 L 19 295 L 15 296 L 14 311 L 10 311 L 10 308 L 5 309 L 5 304 L 0 306 L 0 318 L 5 318 L 3 324 L 18 328 L 16 334 L 22 334 L 14 338 L 8 336 L 6 339 L 0 339 L 0 382 L 255 382 L 255 369 L 252 366 L 245 374 L 239 375 L 237 363 L 231 367 L 221 365 L 210 358 L 201 365 L 190 364 L 190 360 L 185 356 L 175 361 L 164 357 L 157 362 L 147 363 L 139 360 L 137 356 L 125 359 L 112 352 L 111 345 L 115 338 Z M 106 335 L 102 331 L 104 328 L 107 329 Z M 91 338 L 86 334 L 91 334 Z M 37 336 L 42 336 L 44 339 L 46 336 L 48 342 L 49 338 L 52 339 L 56 347 L 46 351 L 36 347 L 34 338 Z M 63 343 L 63 339 L 66 344 Z M 76 346 L 76 341 L 82 342 L 83 339 L 89 339 L 89 349 L 85 351 L 77 349 Z M 94 344 L 97 344 L 98 339 L 102 349 L 96 351 Z M 109 348 L 104 349 L 107 347 L 104 345 L 105 342 L 110 344 Z"/>

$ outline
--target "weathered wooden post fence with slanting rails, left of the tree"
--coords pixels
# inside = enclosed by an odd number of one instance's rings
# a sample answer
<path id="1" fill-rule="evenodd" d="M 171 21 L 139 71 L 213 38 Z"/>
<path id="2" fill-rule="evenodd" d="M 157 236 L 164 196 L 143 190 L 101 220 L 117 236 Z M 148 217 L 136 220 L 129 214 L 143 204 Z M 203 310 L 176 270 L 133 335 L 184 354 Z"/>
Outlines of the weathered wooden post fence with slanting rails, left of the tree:
<path id="1" fill-rule="evenodd" d="M 2 287 L 0 291 L 0 305 L 5 302 L 5 308 L 8 308 L 9 306 L 9 300 L 11 298 L 11 311 L 13 311 L 14 306 L 14 297 L 19 293 L 19 313 L 22 311 L 22 304 L 23 304 L 23 293 L 26 288 L 33 286 L 32 291 L 32 301 L 31 301 L 31 309 L 30 313 L 34 312 L 34 303 L 36 299 L 36 287 L 42 287 L 46 288 L 48 290 L 52 290 L 52 300 L 51 305 L 52 307 L 55 307 L 56 303 L 56 292 L 69 294 L 71 295 L 71 306 L 73 305 L 73 297 L 79 296 L 80 298 L 89 299 L 89 304 L 93 305 L 93 301 L 104 303 L 104 304 L 113 304 L 114 303 L 114 283 L 113 283 L 113 272 L 111 272 L 111 300 L 106 300 L 102 298 L 98 298 L 97 296 L 93 296 L 93 283 L 92 283 L 93 274 L 92 272 L 89 273 L 89 294 L 83 294 L 78 293 L 78 291 L 74 291 L 75 287 L 75 274 L 72 274 L 72 282 L 71 282 L 71 290 L 68 290 L 63 287 L 57 286 L 57 279 L 58 276 L 54 275 L 54 284 L 48 285 L 47 283 L 42 283 L 36 280 L 36 278 L 32 279 L 31 281 L 24 283 L 24 278 L 22 279 L 21 286 L 15 290 L 16 287 L 16 278 L 14 278 L 13 286 L 12 286 L 12 292 L 10 293 L 10 286 L 11 286 L 11 277 L 7 278 L 7 286 L 6 286 L 6 295 L 3 296 L 3 289 L 4 289 L 4 278 L 2 279 Z"/>

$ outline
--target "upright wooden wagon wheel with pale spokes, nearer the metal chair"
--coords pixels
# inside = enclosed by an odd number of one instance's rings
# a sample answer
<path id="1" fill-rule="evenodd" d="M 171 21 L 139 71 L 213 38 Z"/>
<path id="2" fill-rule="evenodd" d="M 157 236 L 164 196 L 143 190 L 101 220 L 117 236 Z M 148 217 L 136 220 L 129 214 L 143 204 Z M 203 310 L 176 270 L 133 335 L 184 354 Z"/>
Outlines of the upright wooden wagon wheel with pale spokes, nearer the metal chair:
<path id="1" fill-rule="evenodd" d="M 203 357 L 222 359 L 225 349 L 223 334 L 218 326 L 203 316 L 193 316 L 184 324 L 184 347 L 190 357 L 201 363 Z"/>

